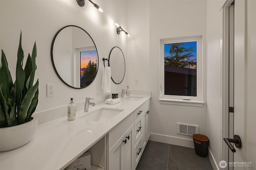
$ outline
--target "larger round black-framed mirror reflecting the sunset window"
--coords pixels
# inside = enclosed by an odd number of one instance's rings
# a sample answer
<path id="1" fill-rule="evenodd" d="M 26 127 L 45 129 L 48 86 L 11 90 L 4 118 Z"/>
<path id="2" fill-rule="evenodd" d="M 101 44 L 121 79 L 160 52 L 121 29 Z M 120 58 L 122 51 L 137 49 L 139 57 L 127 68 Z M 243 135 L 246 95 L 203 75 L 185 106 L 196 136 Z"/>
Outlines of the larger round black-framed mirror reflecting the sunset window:
<path id="1" fill-rule="evenodd" d="M 89 86 L 98 72 L 98 52 L 92 37 L 81 27 L 67 25 L 54 35 L 52 66 L 60 80 L 71 88 Z"/>

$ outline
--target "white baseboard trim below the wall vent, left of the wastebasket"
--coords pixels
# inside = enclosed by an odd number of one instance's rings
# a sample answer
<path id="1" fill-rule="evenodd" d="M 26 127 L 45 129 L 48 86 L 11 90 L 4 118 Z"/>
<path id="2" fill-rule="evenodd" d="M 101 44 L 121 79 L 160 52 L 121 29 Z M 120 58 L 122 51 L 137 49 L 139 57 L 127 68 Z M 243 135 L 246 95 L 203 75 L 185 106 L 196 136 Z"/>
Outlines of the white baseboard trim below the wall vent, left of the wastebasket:
<path id="1" fill-rule="evenodd" d="M 150 141 L 168 143 L 171 145 L 178 145 L 182 147 L 194 148 L 193 139 L 185 139 L 181 137 L 174 137 L 168 135 L 161 135 L 156 133 L 150 133 Z"/>

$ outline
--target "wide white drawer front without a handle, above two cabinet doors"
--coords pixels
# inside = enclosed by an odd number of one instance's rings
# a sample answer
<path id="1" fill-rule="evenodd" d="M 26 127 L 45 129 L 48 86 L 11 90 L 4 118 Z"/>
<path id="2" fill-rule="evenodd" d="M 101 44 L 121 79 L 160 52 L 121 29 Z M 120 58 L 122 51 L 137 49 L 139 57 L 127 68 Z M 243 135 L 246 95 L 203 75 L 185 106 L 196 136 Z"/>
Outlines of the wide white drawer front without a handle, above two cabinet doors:
<path id="1" fill-rule="evenodd" d="M 114 129 L 112 129 L 107 135 L 107 146 L 106 149 L 109 150 L 114 144 L 124 135 L 124 133 L 132 126 L 134 123 L 134 116 L 130 114 L 121 123 L 119 123 Z"/>

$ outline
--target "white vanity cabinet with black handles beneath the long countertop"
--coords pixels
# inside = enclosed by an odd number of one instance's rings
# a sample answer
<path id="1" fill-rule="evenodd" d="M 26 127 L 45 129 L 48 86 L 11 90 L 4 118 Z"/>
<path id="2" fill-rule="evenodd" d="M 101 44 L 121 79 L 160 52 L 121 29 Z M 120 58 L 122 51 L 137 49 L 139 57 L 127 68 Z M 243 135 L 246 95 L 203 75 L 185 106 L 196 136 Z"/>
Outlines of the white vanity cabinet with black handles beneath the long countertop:
<path id="1" fill-rule="evenodd" d="M 107 170 L 135 170 L 149 137 L 150 100 L 107 135 Z"/>

